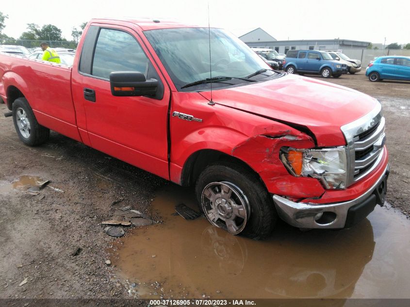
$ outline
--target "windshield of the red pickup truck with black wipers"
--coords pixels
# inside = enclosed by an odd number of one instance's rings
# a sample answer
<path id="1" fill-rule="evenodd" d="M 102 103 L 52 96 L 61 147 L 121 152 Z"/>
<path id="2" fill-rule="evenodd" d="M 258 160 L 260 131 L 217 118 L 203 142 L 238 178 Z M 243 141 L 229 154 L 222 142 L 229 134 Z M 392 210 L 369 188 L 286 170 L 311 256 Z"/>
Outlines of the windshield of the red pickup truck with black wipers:
<path id="1" fill-rule="evenodd" d="M 148 30 L 144 34 L 180 91 L 210 89 L 211 83 L 182 87 L 211 77 L 246 78 L 261 69 L 269 69 L 245 43 L 221 29 L 160 29 Z M 253 78 L 262 79 L 274 74 L 267 71 Z M 239 83 L 248 82 L 232 79 L 229 84 L 212 83 L 212 87 Z"/>

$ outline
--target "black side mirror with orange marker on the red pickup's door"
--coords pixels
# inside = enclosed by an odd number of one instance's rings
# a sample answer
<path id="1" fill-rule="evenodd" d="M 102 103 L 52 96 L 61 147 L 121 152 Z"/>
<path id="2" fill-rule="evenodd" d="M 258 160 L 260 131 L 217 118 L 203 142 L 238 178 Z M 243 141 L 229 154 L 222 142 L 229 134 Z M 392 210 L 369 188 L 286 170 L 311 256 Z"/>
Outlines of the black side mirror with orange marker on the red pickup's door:
<path id="1" fill-rule="evenodd" d="M 113 71 L 110 74 L 113 96 L 155 96 L 158 80 L 146 80 L 139 71 Z"/>

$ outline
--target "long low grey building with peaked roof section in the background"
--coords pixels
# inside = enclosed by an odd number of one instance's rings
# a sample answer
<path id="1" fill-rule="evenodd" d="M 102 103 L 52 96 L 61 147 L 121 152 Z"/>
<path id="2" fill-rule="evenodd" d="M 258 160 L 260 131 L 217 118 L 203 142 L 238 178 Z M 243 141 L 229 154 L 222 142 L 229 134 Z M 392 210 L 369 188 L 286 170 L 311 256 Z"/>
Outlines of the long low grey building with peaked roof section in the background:
<path id="1" fill-rule="evenodd" d="M 271 38 L 273 39 L 271 39 Z M 268 38 L 268 39 L 267 39 Z M 346 49 L 366 49 L 370 42 L 362 42 L 349 39 L 307 39 L 307 40 L 286 40 L 278 41 L 261 28 L 255 29 L 239 37 L 249 47 L 275 49 L 279 53 L 288 50 L 346 50 Z"/>

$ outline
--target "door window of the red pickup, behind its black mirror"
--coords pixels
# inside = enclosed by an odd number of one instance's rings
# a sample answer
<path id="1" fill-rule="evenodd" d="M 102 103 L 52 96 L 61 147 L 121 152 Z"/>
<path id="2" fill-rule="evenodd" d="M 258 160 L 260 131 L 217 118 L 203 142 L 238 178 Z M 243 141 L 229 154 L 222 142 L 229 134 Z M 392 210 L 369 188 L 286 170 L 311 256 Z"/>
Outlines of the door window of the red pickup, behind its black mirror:
<path id="1" fill-rule="evenodd" d="M 113 71 L 139 71 L 147 77 L 148 58 L 130 34 L 101 29 L 94 52 L 91 74 L 110 79 Z"/>

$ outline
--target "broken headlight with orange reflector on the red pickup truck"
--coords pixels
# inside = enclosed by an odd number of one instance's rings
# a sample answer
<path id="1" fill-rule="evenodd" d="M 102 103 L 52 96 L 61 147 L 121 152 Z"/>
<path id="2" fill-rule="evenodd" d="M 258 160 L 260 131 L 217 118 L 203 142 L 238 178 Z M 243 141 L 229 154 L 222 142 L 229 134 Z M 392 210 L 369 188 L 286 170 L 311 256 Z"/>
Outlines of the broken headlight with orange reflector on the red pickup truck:
<path id="1" fill-rule="evenodd" d="M 312 177 L 327 189 L 343 190 L 347 181 L 346 149 L 295 149 L 283 147 L 280 159 L 296 177 Z"/>

